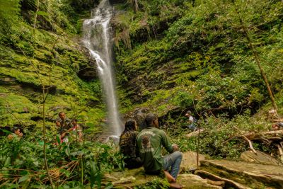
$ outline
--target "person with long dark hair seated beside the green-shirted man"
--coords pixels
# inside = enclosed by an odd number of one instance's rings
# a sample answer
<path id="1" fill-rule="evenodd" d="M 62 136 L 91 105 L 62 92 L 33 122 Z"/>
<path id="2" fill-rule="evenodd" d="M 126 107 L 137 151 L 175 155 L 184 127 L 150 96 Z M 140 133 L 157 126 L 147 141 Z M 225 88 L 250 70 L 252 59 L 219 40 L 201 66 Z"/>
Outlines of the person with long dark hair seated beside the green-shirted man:
<path id="1" fill-rule="evenodd" d="M 141 159 L 137 156 L 137 122 L 135 120 L 127 120 L 125 130 L 120 136 L 120 152 L 125 156 L 125 167 L 138 168 L 142 166 Z"/>

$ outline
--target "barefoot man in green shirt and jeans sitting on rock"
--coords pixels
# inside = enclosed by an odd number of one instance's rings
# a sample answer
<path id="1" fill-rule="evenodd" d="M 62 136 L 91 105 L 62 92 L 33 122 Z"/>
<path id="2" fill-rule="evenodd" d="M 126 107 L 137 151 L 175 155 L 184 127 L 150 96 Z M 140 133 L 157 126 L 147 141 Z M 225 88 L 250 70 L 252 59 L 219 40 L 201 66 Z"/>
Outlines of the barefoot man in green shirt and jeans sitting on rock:
<path id="1" fill-rule="evenodd" d="M 149 174 L 158 174 L 164 171 L 171 188 L 182 188 L 176 183 L 180 171 L 183 154 L 178 151 L 177 144 L 171 144 L 166 133 L 158 129 L 158 118 L 149 113 L 145 118 L 146 128 L 137 136 L 137 149 L 144 165 L 144 170 Z M 162 156 L 164 147 L 170 154 Z"/>

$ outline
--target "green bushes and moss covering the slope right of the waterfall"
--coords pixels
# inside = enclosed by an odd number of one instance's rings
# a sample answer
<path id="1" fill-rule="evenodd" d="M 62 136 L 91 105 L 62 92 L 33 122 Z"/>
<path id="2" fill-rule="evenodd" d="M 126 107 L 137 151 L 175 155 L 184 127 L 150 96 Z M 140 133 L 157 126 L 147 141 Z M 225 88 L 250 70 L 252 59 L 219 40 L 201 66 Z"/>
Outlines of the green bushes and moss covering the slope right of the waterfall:
<path id="1" fill-rule="evenodd" d="M 123 11 L 113 21 L 122 113 L 149 108 L 183 151 L 196 151 L 197 139 L 187 139 L 182 129 L 185 110 L 192 110 L 205 129 L 200 152 L 238 159 L 249 147 L 236 127 L 243 133 L 271 128 L 270 95 L 248 38 L 275 94 L 277 112 L 283 111 L 282 1 L 138 3 L 137 13 L 132 5 L 117 6 Z"/>

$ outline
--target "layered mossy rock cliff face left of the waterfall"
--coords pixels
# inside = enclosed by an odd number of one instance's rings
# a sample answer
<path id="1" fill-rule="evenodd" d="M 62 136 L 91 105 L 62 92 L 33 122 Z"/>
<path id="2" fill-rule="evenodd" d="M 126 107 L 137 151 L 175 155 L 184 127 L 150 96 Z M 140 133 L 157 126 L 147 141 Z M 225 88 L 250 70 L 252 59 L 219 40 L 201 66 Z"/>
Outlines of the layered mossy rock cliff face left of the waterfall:
<path id="1" fill-rule="evenodd" d="M 13 23 L 11 37 L 0 43 L 0 125 L 40 127 L 43 87 L 48 93 L 48 127 L 54 127 L 60 111 L 83 125 L 98 125 L 105 114 L 100 82 L 95 62 L 79 45 L 80 37 L 54 23 L 56 33 L 48 28 L 34 30 L 22 19 Z"/>

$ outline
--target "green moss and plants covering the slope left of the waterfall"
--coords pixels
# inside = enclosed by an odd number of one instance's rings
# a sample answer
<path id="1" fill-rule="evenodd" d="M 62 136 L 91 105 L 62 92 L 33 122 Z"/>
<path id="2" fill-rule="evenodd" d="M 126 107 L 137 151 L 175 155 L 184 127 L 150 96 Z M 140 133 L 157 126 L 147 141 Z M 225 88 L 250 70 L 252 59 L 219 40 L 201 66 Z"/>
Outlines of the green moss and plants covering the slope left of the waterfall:
<path id="1" fill-rule="evenodd" d="M 42 84 L 50 87 L 46 101 L 50 121 L 61 110 L 68 110 L 69 118 L 79 118 L 91 127 L 99 125 L 104 117 L 100 82 L 79 78 L 79 69 L 88 67 L 88 58 L 81 47 L 70 40 L 71 33 L 77 33 L 73 27 L 75 20 L 88 16 L 82 9 L 86 8 L 84 11 L 89 13 L 93 4 L 85 2 L 82 7 L 76 6 L 76 10 L 72 9 L 73 4 L 76 2 L 40 1 L 42 12 L 37 12 L 35 28 L 38 29 L 34 30 L 36 1 L 1 1 L 0 125 L 29 126 L 36 124 L 33 120 L 41 120 Z M 81 17 L 74 14 L 74 18 L 69 19 L 70 10 L 79 11 Z M 53 28 L 45 28 L 47 21 Z M 68 29 L 72 27 L 74 30 Z M 54 33 L 55 28 L 57 33 Z M 81 25 L 79 28 L 81 30 Z M 51 122 L 49 125 L 51 127 Z"/>

